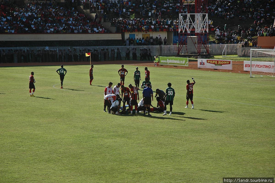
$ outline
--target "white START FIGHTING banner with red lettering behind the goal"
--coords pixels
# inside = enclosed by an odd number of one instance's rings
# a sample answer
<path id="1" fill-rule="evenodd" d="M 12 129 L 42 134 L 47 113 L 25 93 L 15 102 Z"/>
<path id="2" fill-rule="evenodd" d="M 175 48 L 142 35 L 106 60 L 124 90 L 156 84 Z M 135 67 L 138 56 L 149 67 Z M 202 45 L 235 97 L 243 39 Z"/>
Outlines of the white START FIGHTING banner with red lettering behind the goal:
<path id="1" fill-rule="evenodd" d="M 266 72 L 266 73 L 273 73 L 274 72 L 274 62 L 255 62 L 252 61 L 252 68 L 253 70 Z M 244 71 L 250 71 L 250 61 L 244 61 Z"/>

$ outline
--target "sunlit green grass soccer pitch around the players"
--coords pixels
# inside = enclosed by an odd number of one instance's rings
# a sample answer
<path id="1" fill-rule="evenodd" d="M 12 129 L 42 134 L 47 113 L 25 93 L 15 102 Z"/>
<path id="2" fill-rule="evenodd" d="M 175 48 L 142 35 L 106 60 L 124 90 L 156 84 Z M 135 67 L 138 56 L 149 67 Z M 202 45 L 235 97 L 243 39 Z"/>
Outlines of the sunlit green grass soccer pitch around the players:
<path id="1" fill-rule="evenodd" d="M 64 65 L 64 89 L 59 67 L 0 68 L 1 183 L 203 183 L 275 176 L 273 78 L 148 67 L 153 91 L 172 83 L 172 115 L 117 116 L 103 112 L 103 95 L 110 81 L 119 82 L 121 65 L 94 65 L 93 86 L 89 65 Z M 125 65 L 125 85 L 134 85 L 135 67 Z M 139 70 L 143 80 L 144 67 Z M 35 97 L 28 89 L 32 71 Z M 195 109 L 186 109 L 191 77 Z"/>

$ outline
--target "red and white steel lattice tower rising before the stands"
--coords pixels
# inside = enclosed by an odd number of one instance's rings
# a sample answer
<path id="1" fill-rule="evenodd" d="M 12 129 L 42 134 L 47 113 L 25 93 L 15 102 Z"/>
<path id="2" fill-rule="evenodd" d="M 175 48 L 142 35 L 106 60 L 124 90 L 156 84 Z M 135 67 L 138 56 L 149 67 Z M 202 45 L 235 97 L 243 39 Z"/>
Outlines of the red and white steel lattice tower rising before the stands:
<path id="1" fill-rule="evenodd" d="M 181 0 L 180 7 L 178 54 L 183 45 L 187 54 L 209 54 L 207 0 Z"/>

